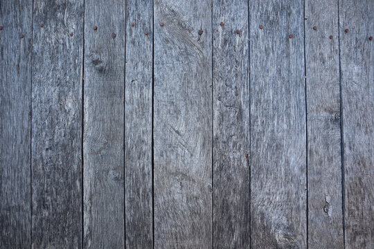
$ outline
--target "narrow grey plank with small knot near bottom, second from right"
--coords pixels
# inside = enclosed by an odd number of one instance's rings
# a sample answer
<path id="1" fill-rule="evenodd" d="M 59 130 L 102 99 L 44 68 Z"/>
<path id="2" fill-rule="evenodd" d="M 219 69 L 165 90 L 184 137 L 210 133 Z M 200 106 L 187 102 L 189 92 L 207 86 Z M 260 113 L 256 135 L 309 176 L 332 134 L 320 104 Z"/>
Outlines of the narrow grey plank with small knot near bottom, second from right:
<path id="1" fill-rule="evenodd" d="M 305 1 L 305 17 L 308 246 L 344 248 L 338 2 Z"/>

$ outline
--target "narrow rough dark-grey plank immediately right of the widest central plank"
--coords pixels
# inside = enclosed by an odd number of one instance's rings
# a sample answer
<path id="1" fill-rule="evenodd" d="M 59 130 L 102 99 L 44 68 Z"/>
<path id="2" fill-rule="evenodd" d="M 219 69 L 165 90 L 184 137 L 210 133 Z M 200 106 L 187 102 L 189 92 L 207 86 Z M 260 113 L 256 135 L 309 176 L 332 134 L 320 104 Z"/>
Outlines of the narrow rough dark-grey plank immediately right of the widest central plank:
<path id="1" fill-rule="evenodd" d="M 213 1 L 213 248 L 250 246 L 248 44 L 248 1 Z"/>

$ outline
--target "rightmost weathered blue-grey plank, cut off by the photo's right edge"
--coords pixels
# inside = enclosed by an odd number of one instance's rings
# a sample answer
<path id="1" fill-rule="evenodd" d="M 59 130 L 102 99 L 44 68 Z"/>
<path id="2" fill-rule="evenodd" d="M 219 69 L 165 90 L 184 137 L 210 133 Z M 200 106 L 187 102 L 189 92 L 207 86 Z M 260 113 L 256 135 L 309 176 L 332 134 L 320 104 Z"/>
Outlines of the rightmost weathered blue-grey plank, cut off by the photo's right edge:
<path id="1" fill-rule="evenodd" d="M 374 248 L 373 12 L 371 0 L 339 1 L 346 248 Z"/>

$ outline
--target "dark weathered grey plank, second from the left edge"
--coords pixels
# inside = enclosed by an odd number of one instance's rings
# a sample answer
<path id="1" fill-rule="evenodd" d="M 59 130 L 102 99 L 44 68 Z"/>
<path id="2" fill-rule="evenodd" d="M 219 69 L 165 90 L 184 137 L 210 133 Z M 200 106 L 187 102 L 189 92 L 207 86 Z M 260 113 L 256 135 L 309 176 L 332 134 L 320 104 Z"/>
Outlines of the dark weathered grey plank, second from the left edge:
<path id="1" fill-rule="evenodd" d="M 83 1 L 33 11 L 33 248 L 81 248 Z"/>

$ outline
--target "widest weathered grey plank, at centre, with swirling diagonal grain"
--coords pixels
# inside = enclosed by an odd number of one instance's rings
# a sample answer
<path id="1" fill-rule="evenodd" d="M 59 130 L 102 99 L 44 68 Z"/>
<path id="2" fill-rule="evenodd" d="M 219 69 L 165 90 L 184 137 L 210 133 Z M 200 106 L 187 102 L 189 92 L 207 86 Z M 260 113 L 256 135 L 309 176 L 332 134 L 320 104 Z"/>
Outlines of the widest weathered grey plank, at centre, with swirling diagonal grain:
<path id="1" fill-rule="evenodd" d="M 155 248 L 212 246 L 211 34 L 211 1 L 154 1 Z"/>

